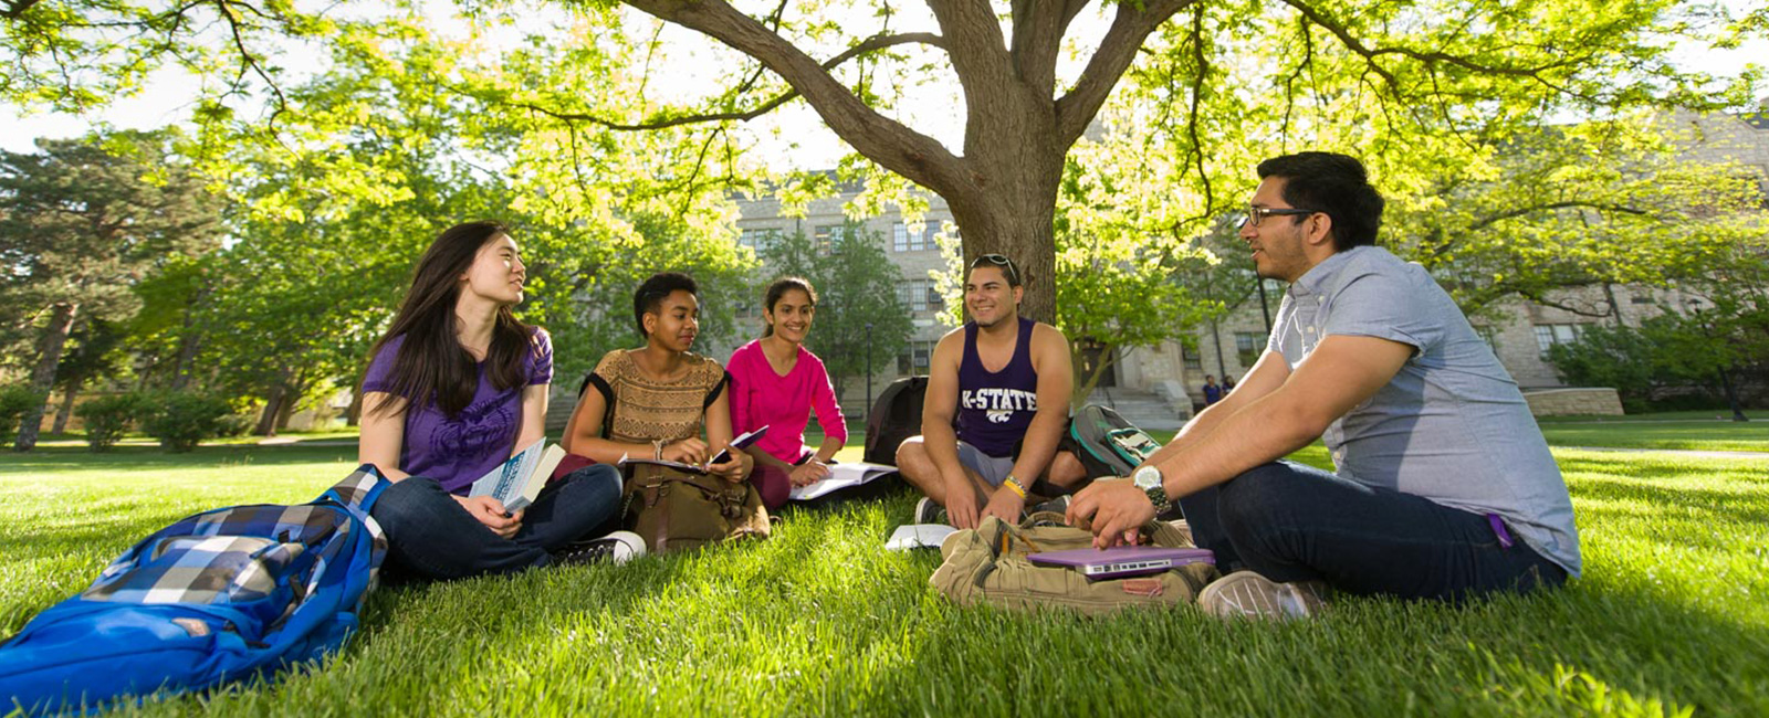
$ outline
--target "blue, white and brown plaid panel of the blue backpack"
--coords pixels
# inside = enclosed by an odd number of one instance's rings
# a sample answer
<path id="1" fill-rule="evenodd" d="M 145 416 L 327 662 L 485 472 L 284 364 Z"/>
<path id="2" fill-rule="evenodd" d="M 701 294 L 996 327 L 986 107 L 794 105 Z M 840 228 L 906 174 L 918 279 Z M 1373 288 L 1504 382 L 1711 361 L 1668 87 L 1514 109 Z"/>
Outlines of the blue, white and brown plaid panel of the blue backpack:
<path id="1" fill-rule="evenodd" d="M 288 591 L 299 591 L 281 612 L 287 615 L 318 589 L 327 562 L 350 545 L 348 509 L 333 500 L 354 508 L 377 481 L 373 472 L 356 470 L 315 504 L 234 506 L 189 516 L 106 566 L 81 598 L 239 605 L 271 598 L 278 577 L 285 577 Z M 373 554 L 384 555 L 387 539 L 380 525 L 359 516 L 375 541 Z"/>

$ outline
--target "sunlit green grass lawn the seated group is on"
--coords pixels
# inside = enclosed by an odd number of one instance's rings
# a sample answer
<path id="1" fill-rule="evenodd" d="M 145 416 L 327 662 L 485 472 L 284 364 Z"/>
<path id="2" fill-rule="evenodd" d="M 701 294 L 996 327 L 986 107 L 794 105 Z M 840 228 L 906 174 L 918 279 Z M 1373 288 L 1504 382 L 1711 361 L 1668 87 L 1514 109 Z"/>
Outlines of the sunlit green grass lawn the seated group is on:
<path id="1" fill-rule="evenodd" d="M 0 456 L 0 633 L 140 536 L 214 506 L 311 499 L 354 454 Z M 1764 463 L 1555 454 L 1587 573 L 1543 596 L 1341 600 L 1277 626 L 1191 607 L 957 608 L 927 584 L 938 554 L 881 548 L 904 495 L 789 511 L 770 541 L 697 555 L 382 589 L 324 668 L 138 713 L 1769 714 Z"/>

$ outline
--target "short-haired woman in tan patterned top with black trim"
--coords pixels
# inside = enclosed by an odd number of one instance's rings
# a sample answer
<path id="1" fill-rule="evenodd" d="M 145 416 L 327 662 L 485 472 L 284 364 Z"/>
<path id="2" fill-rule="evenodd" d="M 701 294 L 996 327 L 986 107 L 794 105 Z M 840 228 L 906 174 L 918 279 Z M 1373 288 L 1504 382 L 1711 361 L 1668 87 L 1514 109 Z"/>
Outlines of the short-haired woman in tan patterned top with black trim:
<path id="1" fill-rule="evenodd" d="M 564 426 L 564 449 L 600 463 L 621 456 L 706 463 L 729 446 L 729 375 L 716 361 L 688 352 L 699 317 L 699 286 L 686 274 L 653 274 L 639 285 L 633 320 L 646 345 L 617 348 L 596 363 Z M 708 470 L 727 481 L 748 477 L 752 458 L 732 453 L 736 458 Z"/>

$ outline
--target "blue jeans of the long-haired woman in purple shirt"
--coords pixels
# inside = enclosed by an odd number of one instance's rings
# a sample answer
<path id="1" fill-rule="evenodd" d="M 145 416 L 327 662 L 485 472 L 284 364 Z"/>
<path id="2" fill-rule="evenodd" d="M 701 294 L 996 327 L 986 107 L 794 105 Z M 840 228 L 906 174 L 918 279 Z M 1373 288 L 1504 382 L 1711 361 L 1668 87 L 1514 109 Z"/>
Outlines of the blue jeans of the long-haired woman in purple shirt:
<path id="1" fill-rule="evenodd" d="M 619 506 L 621 474 L 596 463 L 547 485 L 508 539 L 423 476 L 387 486 L 370 515 L 387 534 L 394 577 L 465 578 L 547 566 L 548 552 L 589 538 Z"/>

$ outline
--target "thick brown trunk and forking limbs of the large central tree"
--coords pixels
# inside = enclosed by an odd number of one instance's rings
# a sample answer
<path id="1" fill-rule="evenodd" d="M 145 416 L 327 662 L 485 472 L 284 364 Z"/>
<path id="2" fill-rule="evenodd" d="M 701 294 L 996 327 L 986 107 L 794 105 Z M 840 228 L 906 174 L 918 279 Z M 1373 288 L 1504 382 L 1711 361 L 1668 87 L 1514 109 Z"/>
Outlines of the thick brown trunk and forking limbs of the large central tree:
<path id="1" fill-rule="evenodd" d="M 1001 16 L 989 4 L 929 0 L 939 23 L 938 35 L 877 34 L 826 62 L 810 58 L 725 0 L 623 2 L 761 60 L 856 152 L 945 198 L 964 235 L 966 264 L 985 253 L 1014 258 L 1028 288 L 1021 313 L 1053 322 L 1053 219 L 1063 157 L 1130 67 L 1148 34 L 1192 0 L 1116 4 L 1099 50 L 1067 92 L 1056 87 L 1056 60 L 1063 34 L 1088 0 L 1015 0 L 1012 37 L 1003 35 Z M 936 46 L 952 60 L 964 90 L 962 157 L 867 106 L 830 74 L 849 58 L 907 42 Z M 785 99 L 791 97 L 778 97 L 775 104 Z"/>

